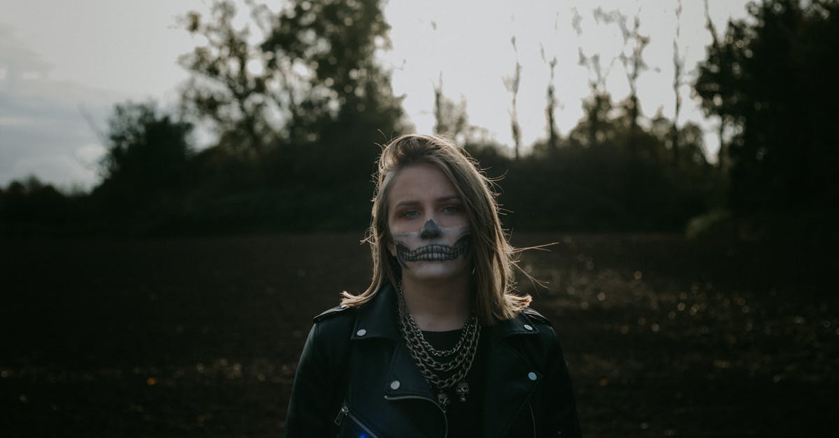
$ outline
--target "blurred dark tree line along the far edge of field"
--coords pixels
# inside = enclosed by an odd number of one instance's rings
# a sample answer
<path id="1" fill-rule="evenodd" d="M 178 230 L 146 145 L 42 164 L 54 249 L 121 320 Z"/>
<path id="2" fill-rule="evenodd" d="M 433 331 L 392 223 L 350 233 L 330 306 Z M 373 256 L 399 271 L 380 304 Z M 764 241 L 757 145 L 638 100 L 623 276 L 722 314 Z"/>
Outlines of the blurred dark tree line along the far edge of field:
<path id="1" fill-rule="evenodd" d="M 29 179 L 0 190 L 0 231 L 193 234 L 360 230 L 369 218 L 381 144 L 409 132 L 399 96 L 374 52 L 388 46 L 378 0 L 294 0 L 248 11 L 263 39 L 234 24 L 236 8 L 188 13 L 185 30 L 206 44 L 180 58 L 192 73 L 177 114 L 154 103 L 114 108 L 102 182 L 63 194 Z M 679 23 L 680 6 L 675 23 Z M 693 81 L 674 40 L 675 117 L 645 117 L 635 83 L 647 66 L 638 15 L 597 9 L 623 35 L 629 85 L 616 101 L 604 60 L 580 52 L 590 72 L 584 117 L 555 128 L 553 76 L 544 56 L 545 137 L 525 149 L 516 118 L 520 65 L 505 78 L 513 153 L 468 123 L 466 102 L 435 86 L 435 130 L 454 138 L 487 175 L 503 177 L 499 201 L 513 230 L 827 232 L 836 212 L 836 1 L 751 3 L 749 17 L 711 44 Z M 579 23 L 575 18 L 572 25 Z M 578 32 L 581 29 L 576 27 Z M 513 37 L 513 49 L 517 49 Z M 721 142 L 706 159 L 702 131 L 678 123 L 680 87 L 691 86 Z M 194 123 L 217 141 L 196 150 Z"/>

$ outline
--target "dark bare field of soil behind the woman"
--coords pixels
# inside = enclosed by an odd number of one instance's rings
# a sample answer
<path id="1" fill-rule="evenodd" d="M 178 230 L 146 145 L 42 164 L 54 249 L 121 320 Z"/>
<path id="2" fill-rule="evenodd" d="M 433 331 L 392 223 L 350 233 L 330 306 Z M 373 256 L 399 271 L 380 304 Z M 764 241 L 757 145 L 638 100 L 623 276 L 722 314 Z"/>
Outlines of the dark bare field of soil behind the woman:
<path id="1" fill-rule="evenodd" d="M 0 436 L 280 436 L 358 234 L 3 241 Z M 587 436 L 836 436 L 829 245 L 516 235 Z M 829 283 L 829 281 L 831 281 Z"/>

